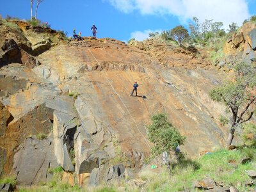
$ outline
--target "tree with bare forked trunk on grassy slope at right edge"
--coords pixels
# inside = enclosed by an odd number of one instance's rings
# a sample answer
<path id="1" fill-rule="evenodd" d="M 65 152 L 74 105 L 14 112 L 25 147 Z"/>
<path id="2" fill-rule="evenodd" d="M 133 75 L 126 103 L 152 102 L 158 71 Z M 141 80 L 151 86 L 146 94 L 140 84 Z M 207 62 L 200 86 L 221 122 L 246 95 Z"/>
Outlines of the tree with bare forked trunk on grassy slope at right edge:
<path id="1" fill-rule="evenodd" d="M 252 118 L 256 102 L 256 66 L 241 61 L 234 66 L 234 72 L 234 81 L 214 88 L 209 94 L 212 100 L 225 104 L 232 114 L 227 147 L 232 144 L 237 127 Z"/>

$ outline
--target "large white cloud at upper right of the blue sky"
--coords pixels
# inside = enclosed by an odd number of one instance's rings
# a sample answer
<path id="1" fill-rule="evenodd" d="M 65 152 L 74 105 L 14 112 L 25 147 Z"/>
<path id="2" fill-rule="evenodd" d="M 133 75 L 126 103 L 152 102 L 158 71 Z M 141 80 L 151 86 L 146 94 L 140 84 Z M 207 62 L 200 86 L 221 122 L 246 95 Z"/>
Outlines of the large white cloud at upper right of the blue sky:
<path id="1" fill-rule="evenodd" d="M 142 15 L 175 15 L 180 20 L 197 17 L 222 21 L 224 26 L 232 22 L 242 24 L 248 19 L 246 0 L 108 0 L 116 9 L 124 13 L 138 10 Z"/>

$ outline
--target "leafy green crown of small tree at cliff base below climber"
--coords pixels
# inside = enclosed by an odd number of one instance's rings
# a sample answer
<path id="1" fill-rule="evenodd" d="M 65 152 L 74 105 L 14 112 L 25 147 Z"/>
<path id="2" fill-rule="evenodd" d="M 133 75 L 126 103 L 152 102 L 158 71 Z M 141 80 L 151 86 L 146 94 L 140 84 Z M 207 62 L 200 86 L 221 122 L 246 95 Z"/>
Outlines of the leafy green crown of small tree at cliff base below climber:
<path id="1" fill-rule="evenodd" d="M 159 155 L 163 152 L 175 150 L 178 145 L 183 145 L 185 137 L 168 122 L 165 113 L 158 113 L 151 118 L 152 124 L 147 126 L 148 139 L 155 144 L 152 152 Z"/>

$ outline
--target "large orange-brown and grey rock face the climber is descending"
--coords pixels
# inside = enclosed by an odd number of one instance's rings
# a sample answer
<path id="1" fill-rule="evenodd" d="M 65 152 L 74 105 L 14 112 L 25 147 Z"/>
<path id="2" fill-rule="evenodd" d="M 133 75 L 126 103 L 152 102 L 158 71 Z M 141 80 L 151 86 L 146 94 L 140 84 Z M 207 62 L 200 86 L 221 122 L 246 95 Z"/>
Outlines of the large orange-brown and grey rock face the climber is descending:
<path id="1" fill-rule="evenodd" d="M 226 74 L 203 50 L 67 42 L 24 22 L 0 22 L 0 33 L 0 173 L 19 184 L 48 180 L 56 166 L 91 185 L 142 166 L 152 146 L 145 125 L 158 112 L 187 137 L 189 156 L 223 146 L 224 108 L 208 92 Z M 134 81 L 139 97 L 130 96 Z"/>

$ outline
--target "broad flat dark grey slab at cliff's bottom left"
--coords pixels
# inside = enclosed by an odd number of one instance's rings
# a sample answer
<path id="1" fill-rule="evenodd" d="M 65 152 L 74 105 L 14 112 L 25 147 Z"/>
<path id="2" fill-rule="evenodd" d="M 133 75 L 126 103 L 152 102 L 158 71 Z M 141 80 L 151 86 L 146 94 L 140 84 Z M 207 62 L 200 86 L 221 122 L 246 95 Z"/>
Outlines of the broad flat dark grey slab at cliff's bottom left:
<path id="1" fill-rule="evenodd" d="M 51 174 L 48 168 L 58 166 L 52 141 L 27 138 L 14 156 L 13 170 L 17 173 L 17 184 L 31 185 L 47 182 Z"/>

